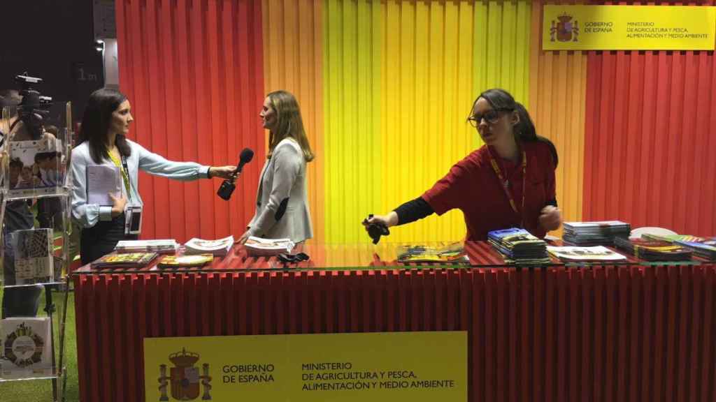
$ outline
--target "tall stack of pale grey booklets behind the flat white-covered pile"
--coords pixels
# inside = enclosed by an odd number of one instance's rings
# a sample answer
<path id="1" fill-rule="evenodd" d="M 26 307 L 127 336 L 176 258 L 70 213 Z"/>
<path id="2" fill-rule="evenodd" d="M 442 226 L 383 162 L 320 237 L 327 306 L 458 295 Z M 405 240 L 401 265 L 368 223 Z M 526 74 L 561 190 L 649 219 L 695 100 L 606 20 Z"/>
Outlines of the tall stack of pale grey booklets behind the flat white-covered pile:
<path id="1" fill-rule="evenodd" d="M 620 220 L 564 222 L 562 240 L 566 245 L 614 245 L 614 237 L 629 237 L 632 227 Z"/>

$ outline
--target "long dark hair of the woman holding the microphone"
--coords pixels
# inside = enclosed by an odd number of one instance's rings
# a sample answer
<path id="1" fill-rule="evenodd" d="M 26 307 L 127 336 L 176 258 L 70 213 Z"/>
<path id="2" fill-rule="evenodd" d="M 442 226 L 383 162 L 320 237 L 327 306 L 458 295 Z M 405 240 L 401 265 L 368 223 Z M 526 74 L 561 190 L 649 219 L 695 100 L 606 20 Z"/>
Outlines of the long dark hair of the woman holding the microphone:
<path id="1" fill-rule="evenodd" d="M 84 108 L 82 115 L 82 124 L 79 126 L 78 144 L 87 141 L 89 156 L 97 164 L 102 163 L 102 160 L 110 159 L 107 132 L 112 122 L 112 112 L 115 112 L 125 100 L 127 97 L 122 92 L 110 88 L 97 89 L 89 95 L 87 107 Z M 115 144 L 120 155 L 129 157 L 132 154 L 130 144 L 124 135 L 117 134 Z"/>

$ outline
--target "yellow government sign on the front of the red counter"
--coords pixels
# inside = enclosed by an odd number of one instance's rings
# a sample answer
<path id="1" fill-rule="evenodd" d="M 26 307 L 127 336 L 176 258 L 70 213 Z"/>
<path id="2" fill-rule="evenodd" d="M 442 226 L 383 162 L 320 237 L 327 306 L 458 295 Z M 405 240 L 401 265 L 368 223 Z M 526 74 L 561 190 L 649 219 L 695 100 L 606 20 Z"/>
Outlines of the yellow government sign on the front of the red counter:
<path id="1" fill-rule="evenodd" d="M 154 401 L 460 401 L 466 331 L 145 338 Z"/>

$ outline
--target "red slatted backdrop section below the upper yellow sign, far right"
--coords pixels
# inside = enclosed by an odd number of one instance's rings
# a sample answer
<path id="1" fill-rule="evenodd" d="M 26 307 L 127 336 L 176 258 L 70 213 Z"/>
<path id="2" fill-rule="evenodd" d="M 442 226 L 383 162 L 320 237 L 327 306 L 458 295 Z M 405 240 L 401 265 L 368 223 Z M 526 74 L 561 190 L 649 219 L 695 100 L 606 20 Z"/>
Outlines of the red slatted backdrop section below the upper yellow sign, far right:
<path id="1" fill-rule="evenodd" d="M 583 219 L 711 235 L 714 53 L 589 52 L 588 65 Z"/>

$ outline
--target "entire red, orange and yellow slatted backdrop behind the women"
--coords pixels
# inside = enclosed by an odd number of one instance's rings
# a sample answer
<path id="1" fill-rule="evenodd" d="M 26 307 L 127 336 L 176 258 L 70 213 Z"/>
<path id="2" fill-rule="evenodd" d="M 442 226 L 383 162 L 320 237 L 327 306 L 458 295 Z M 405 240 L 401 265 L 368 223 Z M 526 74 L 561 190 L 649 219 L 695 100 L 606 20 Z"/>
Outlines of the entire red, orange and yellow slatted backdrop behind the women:
<path id="1" fill-rule="evenodd" d="M 538 133 L 556 144 L 566 220 L 713 235 L 713 52 L 542 52 L 542 5 L 117 1 L 131 135 L 170 159 L 207 165 L 257 151 L 230 202 L 214 194 L 216 180 L 142 175 L 144 237 L 241 235 L 266 155 L 258 111 L 267 92 L 286 89 L 318 155 L 309 164 L 313 241 L 367 242 L 366 215 L 417 197 L 481 145 L 465 118 L 490 87 L 528 105 Z M 458 240 L 462 219 L 428 217 L 396 227 L 390 240 Z"/>

